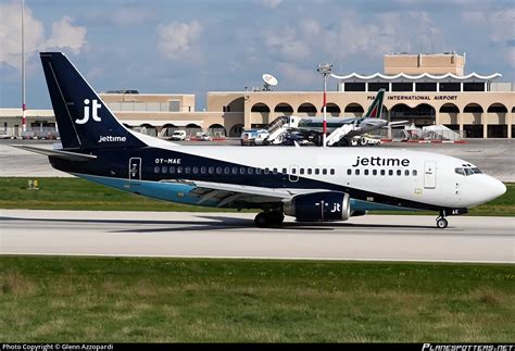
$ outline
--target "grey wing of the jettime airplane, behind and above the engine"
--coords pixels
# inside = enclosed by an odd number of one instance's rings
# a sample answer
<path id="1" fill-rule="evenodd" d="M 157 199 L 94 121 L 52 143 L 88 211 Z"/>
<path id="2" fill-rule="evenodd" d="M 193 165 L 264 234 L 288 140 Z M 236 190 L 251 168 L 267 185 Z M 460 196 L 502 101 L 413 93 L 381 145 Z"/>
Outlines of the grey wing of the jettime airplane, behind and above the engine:
<path id="1" fill-rule="evenodd" d="M 296 189 L 294 191 L 286 190 L 284 188 L 264 188 L 225 183 L 213 183 L 202 180 L 172 180 L 191 185 L 194 188 L 190 195 L 197 195 L 199 201 L 197 204 L 202 204 L 206 201 L 217 201 L 216 206 L 223 208 L 229 204 L 235 205 L 240 203 L 242 205 L 263 205 L 274 204 L 288 201 L 297 195 L 310 193 L 318 191 L 327 191 L 324 189 Z"/>

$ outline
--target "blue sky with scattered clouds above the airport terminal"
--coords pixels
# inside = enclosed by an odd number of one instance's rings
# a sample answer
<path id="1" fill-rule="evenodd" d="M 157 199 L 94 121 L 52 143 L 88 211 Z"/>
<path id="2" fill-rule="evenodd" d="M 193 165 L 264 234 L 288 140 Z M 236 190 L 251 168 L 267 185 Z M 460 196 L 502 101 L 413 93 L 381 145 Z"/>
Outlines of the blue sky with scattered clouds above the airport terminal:
<path id="1" fill-rule="evenodd" d="M 0 108 L 21 106 L 22 0 L 0 0 Z M 50 109 L 38 52 L 63 51 L 97 91 L 319 90 L 382 72 L 388 52 L 466 53 L 465 74 L 515 82 L 514 0 L 26 0 L 26 101 Z M 336 80 L 328 83 L 336 89 Z"/>

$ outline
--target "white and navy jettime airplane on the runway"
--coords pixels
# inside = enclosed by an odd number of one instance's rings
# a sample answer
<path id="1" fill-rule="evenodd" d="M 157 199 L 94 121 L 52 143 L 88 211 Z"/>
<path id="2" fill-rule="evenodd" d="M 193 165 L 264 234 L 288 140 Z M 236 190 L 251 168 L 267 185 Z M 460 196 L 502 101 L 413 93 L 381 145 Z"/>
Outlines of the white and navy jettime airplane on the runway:
<path id="1" fill-rule="evenodd" d="M 171 143 L 122 125 L 63 53 L 40 57 L 62 148 L 21 148 L 104 186 L 179 203 L 262 209 L 259 227 L 280 225 L 285 214 L 326 222 L 370 210 L 430 210 L 444 228 L 447 216 L 506 191 L 474 164 L 428 152 Z"/>

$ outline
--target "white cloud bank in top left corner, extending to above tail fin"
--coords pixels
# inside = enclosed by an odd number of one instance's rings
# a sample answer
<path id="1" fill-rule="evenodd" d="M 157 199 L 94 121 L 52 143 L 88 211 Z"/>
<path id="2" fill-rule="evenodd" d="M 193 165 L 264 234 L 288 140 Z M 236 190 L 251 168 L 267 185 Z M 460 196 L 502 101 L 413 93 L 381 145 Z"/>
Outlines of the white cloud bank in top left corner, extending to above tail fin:
<path id="1" fill-rule="evenodd" d="M 0 62 L 21 68 L 22 66 L 22 7 L 20 2 L 0 4 Z M 30 8 L 24 9 L 25 55 L 52 48 L 67 49 L 77 54 L 86 45 L 86 28 L 74 26 L 73 20 L 64 16 L 52 24 L 52 34 L 45 36 L 41 22 L 34 17 Z"/>

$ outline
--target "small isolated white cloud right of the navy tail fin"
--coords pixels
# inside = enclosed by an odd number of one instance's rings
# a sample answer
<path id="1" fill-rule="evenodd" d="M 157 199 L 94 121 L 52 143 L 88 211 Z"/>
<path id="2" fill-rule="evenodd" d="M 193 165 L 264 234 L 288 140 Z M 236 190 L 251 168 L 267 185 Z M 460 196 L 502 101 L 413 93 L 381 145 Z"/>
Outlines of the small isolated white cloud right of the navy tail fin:
<path id="1" fill-rule="evenodd" d="M 190 51 L 202 32 L 198 21 L 190 23 L 172 22 L 158 27 L 158 47 L 168 59 L 177 59 L 183 53 Z"/>

